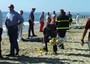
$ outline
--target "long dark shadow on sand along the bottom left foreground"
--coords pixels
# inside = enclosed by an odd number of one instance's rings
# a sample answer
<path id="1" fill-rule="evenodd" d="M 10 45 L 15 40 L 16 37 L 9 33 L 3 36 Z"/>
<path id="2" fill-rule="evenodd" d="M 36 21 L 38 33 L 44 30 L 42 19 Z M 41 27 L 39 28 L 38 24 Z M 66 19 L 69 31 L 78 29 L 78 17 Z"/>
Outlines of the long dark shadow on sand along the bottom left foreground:
<path id="1" fill-rule="evenodd" d="M 3 57 L 0 60 L 0 64 L 12 64 L 7 61 L 19 62 L 20 64 L 33 64 L 33 63 L 49 63 L 49 64 L 68 64 L 66 62 L 61 62 L 60 59 L 57 58 L 40 58 L 40 57 L 28 57 L 28 56 L 17 56 L 17 57 Z M 6 62 L 5 62 L 6 61 Z M 15 64 L 15 63 L 14 63 Z"/>

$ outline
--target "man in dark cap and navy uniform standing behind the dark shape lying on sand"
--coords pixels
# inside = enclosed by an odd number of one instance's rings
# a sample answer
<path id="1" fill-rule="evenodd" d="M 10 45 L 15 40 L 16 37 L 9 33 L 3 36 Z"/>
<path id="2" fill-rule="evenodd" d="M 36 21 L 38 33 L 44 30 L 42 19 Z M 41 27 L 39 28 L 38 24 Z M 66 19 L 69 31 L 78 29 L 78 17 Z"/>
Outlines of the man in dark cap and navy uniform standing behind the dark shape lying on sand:
<path id="1" fill-rule="evenodd" d="M 35 12 L 35 8 L 32 8 L 32 11 L 29 15 L 29 30 L 28 30 L 28 38 L 31 37 L 30 33 L 32 31 L 32 36 L 36 36 L 34 34 L 34 20 L 35 20 L 35 17 L 34 17 L 34 12 Z"/>

